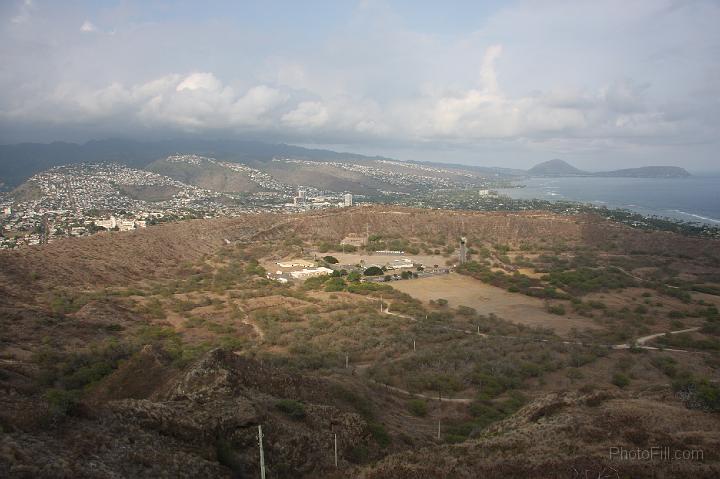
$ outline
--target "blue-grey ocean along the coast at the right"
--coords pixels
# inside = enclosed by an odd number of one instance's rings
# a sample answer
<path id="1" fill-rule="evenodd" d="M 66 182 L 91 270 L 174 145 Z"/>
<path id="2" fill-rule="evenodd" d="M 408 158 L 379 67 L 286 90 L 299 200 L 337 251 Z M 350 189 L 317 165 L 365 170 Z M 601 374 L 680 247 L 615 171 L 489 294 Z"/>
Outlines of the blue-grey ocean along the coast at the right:
<path id="1" fill-rule="evenodd" d="M 498 192 L 517 199 L 570 200 L 643 215 L 720 226 L 720 176 L 689 178 L 528 178 Z"/>

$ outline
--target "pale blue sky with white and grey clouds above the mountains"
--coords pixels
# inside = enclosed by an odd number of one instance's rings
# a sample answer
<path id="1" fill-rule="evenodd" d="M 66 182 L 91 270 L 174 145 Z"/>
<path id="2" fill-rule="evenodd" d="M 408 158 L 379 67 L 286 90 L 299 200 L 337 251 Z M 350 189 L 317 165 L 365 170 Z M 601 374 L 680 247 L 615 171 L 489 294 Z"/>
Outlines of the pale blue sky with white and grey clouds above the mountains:
<path id="1" fill-rule="evenodd" d="M 0 0 L 0 143 L 720 170 L 720 2 Z"/>

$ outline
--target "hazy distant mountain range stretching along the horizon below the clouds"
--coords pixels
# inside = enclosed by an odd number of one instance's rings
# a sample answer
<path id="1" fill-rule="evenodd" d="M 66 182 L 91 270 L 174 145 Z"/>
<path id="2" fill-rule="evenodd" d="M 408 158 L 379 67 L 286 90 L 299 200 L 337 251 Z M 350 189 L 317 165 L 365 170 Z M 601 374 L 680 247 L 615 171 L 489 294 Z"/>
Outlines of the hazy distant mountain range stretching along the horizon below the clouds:
<path id="1" fill-rule="evenodd" d="M 197 154 L 225 163 L 247 165 L 266 172 L 279 181 L 307 184 L 333 190 L 360 191 L 383 189 L 383 175 L 405 174 L 420 177 L 447 177 L 453 184 L 462 178 L 513 178 L 522 176 L 610 176 L 662 177 L 689 176 L 683 168 L 649 166 L 601 173 L 579 170 L 563 160 L 540 163 L 529 170 L 480 167 L 445 163 L 398 161 L 379 156 L 308 149 L 287 144 L 271 144 L 244 140 L 164 140 L 140 142 L 108 139 L 85 144 L 55 142 L 0 145 L 0 187 L 12 189 L 30 176 L 48 168 L 77 163 L 116 162 L 140 169 L 149 169 L 209 189 L 245 191 L 247 181 L 242 175 L 217 164 L 168 164 L 165 159 L 175 154 Z M 296 162 L 273 161 L 278 158 Z M 303 160 L 305 160 L 303 162 Z M 324 162 L 319 165 L 308 162 Z M 344 165 L 344 166 L 343 166 Z M 355 165 L 353 168 L 347 165 Z M 363 169 L 363 166 L 366 167 Z M 370 169 L 370 170 L 368 170 Z M 368 177 L 372 177 L 368 179 Z M 392 183 L 391 183 L 392 184 Z M 395 185 L 397 186 L 397 185 Z"/>

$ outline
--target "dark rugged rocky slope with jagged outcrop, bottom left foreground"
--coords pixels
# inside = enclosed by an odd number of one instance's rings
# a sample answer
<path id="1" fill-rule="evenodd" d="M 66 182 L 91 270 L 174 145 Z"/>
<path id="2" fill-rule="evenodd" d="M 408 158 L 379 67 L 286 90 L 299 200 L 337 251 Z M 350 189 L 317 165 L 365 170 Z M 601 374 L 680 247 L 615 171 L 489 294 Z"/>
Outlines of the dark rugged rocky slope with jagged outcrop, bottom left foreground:
<path id="1" fill-rule="evenodd" d="M 0 476 L 254 477 L 258 425 L 269 477 L 332 474 L 334 434 L 341 458 L 372 447 L 359 415 L 329 405 L 334 401 L 327 381 L 221 350 L 174 378 L 145 374 L 147 366 L 171 371 L 158 354 L 143 350 L 69 417 L 35 411 L 36 418 L 48 419 L 33 423 L 0 415 Z M 133 397 L 117 398 L 123 384 Z M 276 407 L 281 399 L 302 402 L 303 414 L 283 412 Z M 3 403 L 4 411 L 12 410 L 12 399 Z"/>

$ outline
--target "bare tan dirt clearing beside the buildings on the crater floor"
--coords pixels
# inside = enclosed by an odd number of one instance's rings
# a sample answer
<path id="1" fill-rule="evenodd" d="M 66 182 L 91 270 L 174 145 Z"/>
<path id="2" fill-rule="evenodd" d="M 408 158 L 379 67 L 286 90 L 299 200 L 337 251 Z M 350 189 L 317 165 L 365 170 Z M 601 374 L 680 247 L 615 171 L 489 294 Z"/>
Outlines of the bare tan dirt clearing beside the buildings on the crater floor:
<path id="1" fill-rule="evenodd" d="M 598 327 L 591 319 L 582 316 L 550 314 L 545 311 L 545 303 L 541 299 L 509 293 L 504 289 L 456 273 L 393 281 L 390 284 L 395 289 L 426 303 L 431 299 L 444 298 L 453 307 L 470 306 L 481 314 L 495 313 L 514 323 L 551 328 L 559 335 L 567 335 L 573 328 L 582 330 Z"/>

